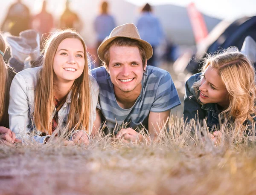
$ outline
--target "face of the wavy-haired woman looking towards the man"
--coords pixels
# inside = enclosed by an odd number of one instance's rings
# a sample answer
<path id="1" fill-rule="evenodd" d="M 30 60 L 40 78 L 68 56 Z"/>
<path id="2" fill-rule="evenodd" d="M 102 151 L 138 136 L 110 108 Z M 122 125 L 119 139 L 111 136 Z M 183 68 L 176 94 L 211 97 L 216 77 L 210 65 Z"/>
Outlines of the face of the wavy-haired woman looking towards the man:
<path id="1" fill-rule="evenodd" d="M 201 79 L 200 101 L 202 103 L 218 103 L 222 107 L 229 105 L 228 92 L 218 71 L 208 66 Z"/>

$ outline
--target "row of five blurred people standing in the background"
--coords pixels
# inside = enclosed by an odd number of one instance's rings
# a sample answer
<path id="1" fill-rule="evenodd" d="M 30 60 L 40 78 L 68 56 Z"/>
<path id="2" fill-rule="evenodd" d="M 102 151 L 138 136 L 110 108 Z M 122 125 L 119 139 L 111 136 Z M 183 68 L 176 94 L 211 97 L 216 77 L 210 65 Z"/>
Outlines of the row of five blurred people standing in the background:
<path id="1" fill-rule="evenodd" d="M 72 10 L 70 0 L 66 1 L 65 9 L 58 20 L 54 22 L 54 17 L 47 11 L 47 0 L 43 0 L 40 13 L 32 15 L 29 8 L 22 2 L 17 0 L 9 6 L 6 17 L 1 25 L 2 32 L 9 32 L 12 36 L 20 36 L 20 32 L 27 29 L 35 29 L 39 33 L 41 50 L 43 49 L 44 40 L 47 39 L 49 33 L 55 32 L 57 29 L 76 29 L 81 32 L 83 23 L 79 18 L 79 14 Z M 95 49 L 99 47 L 102 41 L 109 36 L 111 31 L 117 26 L 115 18 L 109 12 L 109 3 L 102 1 L 100 4 L 99 14 L 93 21 L 93 29 L 96 33 Z M 165 33 L 161 26 L 160 20 L 153 14 L 152 6 L 148 3 L 141 9 L 140 17 L 137 18 L 135 24 L 140 32 L 143 40 L 151 44 L 154 51 L 165 40 Z M 150 32 L 150 33 L 148 33 Z M 168 51 L 167 51 L 168 50 Z M 166 51 L 170 53 L 170 47 Z M 8 61 L 11 56 L 10 52 L 6 52 L 5 59 Z M 167 54 L 168 56 L 168 54 Z M 168 58 L 168 57 L 167 57 Z M 172 60 L 172 59 L 171 59 Z M 156 52 L 148 61 L 148 64 L 157 66 Z M 102 61 L 97 57 L 92 67 L 99 67 Z"/>

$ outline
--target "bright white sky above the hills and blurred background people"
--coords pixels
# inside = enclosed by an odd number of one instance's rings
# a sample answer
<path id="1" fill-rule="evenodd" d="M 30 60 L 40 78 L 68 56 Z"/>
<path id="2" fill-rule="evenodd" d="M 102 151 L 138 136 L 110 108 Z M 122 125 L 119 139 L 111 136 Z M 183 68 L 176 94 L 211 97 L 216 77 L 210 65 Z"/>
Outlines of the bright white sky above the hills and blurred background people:
<path id="1" fill-rule="evenodd" d="M 6 7 L 7 4 L 11 4 L 16 0 L 0 0 L 0 6 Z M 22 0 L 24 3 L 33 3 L 34 9 L 32 12 L 38 12 L 41 7 L 42 0 Z M 60 12 L 63 9 L 64 4 L 60 3 L 59 0 L 48 0 L 49 4 L 55 6 L 55 11 Z M 70 0 L 74 3 L 81 2 L 80 0 Z M 85 1 L 85 0 L 84 0 Z M 93 4 L 93 0 L 86 0 Z M 115 0 L 111 0 L 115 1 Z M 119 0 L 116 0 L 119 1 Z M 204 14 L 212 17 L 217 17 L 219 19 L 234 20 L 238 17 L 244 15 L 251 16 L 256 15 L 256 0 L 126 0 L 137 6 L 143 6 L 145 3 L 150 3 L 152 5 L 161 4 L 173 4 L 177 6 L 186 7 L 192 1 L 195 3 L 197 9 Z M 38 6 L 36 6 L 38 5 Z M 56 8 L 57 6 L 57 8 Z M 86 11 L 86 10 L 85 10 Z M 54 14 L 54 13 L 53 13 Z"/>

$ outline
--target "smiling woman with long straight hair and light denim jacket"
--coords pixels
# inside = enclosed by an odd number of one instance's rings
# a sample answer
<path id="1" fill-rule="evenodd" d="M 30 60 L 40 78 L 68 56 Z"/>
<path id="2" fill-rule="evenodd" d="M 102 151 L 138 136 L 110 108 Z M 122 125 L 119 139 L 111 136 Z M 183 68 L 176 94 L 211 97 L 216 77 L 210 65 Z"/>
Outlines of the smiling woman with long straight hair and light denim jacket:
<path id="1" fill-rule="evenodd" d="M 98 94 L 82 37 L 71 29 L 55 32 L 45 44 L 42 66 L 23 70 L 12 81 L 10 129 L 39 143 L 66 129 L 76 132 L 74 142 L 88 143 Z"/>

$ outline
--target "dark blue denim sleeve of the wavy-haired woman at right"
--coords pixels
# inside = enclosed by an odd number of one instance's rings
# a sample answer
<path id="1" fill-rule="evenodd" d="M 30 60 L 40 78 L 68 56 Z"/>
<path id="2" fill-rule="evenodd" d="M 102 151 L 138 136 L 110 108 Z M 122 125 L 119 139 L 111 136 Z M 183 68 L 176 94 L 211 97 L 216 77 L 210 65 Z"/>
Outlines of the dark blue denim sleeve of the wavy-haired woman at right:
<path id="1" fill-rule="evenodd" d="M 185 83 L 185 97 L 184 97 L 184 110 L 183 118 L 184 121 L 191 119 L 203 120 L 206 115 L 204 110 L 201 109 L 201 104 L 198 103 L 198 96 L 195 94 L 195 89 L 192 88 L 192 85 L 200 79 L 201 73 L 192 75 Z"/>

